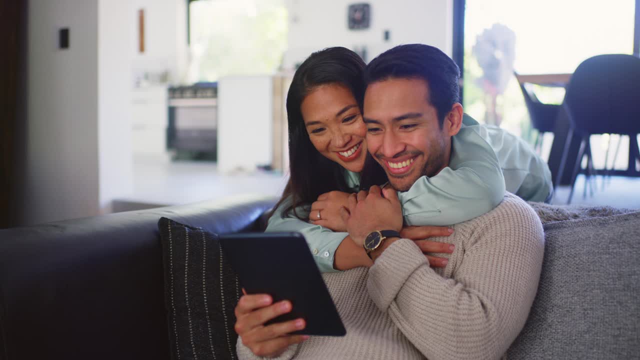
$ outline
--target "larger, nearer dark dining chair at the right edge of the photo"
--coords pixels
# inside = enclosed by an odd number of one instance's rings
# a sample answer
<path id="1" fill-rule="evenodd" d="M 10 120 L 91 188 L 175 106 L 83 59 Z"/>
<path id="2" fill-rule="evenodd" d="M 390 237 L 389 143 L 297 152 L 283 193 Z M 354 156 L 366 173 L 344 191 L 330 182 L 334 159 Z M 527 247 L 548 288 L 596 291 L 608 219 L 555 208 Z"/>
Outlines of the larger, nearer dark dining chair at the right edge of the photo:
<path id="1" fill-rule="evenodd" d="M 563 107 L 570 122 L 558 178 L 563 176 L 569 143 L 575 135 L 580 150 L 571 177 L 571 202 L 582 158 L 590 154 L 589 136 L 619 134 L 629 136 L 628 175 L 636 176 L 640 160 L 637 134 L 640 133 L 640 58 L 627 54 L 597 55 L 578 65 L 566 87 Z M 593 167 L 588 161 L 588 167 Z"/>

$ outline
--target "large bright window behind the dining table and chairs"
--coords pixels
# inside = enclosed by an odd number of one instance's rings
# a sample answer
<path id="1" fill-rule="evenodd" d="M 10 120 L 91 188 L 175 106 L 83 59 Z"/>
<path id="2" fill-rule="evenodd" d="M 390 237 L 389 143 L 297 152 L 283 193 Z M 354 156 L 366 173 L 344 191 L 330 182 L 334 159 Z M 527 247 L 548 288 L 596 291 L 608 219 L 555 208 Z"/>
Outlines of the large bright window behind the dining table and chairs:
<path id="1" fill-rule="evenodd" d="M 467 0 L 464 28 L 465 112 L 529 133 L 529 116 L 513 76 L 571 73 L 596 54 L 632 54 L 636 0 Z M 563 88 L 536 88 L 561 103 Z"/>

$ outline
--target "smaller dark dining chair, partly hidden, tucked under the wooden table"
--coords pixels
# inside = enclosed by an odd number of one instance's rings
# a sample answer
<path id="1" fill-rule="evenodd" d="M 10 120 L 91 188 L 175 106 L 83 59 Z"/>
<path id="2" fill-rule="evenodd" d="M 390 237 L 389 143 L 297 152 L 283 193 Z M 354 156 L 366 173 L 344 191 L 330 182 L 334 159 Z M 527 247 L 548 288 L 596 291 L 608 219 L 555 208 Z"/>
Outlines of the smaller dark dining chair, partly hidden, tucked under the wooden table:
<path id="1" fill-rule="evenodd" d="M 520 84 L 520 90 L 522 90 L 522 96 L 524 97 L 527 111 L 529 111 L 529 118 L 531 119 L 531 127 L 538 131 L 536 134 L 536 140 L 534 140 L 533 147 L 536 151 L 540 152 L 542 147 L 542 138 L 545 133 L 552 133 L 556 124 L 557 113 L 561 106 L 556 104 L 545 104 L 538 100 L 538 97 L 531 88 L 532 84 L 522 81 L 517 72 L 513 72 L 518 84 Z"/>

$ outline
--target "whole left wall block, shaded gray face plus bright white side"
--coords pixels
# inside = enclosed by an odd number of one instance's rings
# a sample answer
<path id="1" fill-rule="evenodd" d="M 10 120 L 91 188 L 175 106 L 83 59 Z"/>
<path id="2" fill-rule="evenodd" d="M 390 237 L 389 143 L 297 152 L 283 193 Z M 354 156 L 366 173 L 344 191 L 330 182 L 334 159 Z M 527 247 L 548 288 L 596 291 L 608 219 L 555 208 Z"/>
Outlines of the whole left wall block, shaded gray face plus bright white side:
<path id="1" fill-rule="evenodd" d="M 127 0 L 29 0 L 24 192 L 19 224 L 109 211 L 131 192 Z M 58 29 L 69 28 L 69 49 Z"/>

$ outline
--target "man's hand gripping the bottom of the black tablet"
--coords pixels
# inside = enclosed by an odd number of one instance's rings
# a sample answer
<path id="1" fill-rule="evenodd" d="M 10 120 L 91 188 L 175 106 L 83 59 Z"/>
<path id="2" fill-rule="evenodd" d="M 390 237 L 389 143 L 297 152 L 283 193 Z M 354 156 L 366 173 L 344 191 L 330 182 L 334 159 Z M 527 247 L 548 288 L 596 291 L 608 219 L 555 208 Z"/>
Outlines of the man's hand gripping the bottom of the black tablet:
<path id="1" fill-rule="evenodd" d="M 236 332 L 242 343 L 256 356 L 278 356 L 289 345 L 308 339 L 307 335 L 288 335 L 289 332 L 305 328 L 305 320 L 301 318 L 264 325 L 265 322 L 291 311 L 291 302 L 287 300 L 276 304 L 271 304 L 272 302 L 269 295 L 244 293 L 236 306 Z"/>

